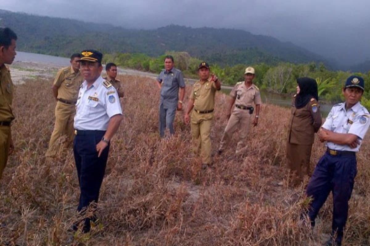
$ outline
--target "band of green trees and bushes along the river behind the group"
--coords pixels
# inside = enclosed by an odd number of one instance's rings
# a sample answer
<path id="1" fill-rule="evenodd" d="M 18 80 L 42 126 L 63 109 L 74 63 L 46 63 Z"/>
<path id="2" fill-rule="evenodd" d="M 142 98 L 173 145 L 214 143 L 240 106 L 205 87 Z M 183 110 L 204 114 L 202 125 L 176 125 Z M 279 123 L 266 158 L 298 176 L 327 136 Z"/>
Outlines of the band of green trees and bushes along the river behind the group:
<path id="1" fill-rule="evenodd" d="M 187 52 L 169 51 L 165 55 L 174 56 L 175 67 L 182 70 L 185 77 L 197 78 L 196 68 L 202 60 L 191 57 Z M 114 62 L 120 67 L 136 69 L 146 72 L 159 73 L 164 69 L 165 55 L 150 57 L 143 53 L 107 53 L 103 62 Z M 293 64 L 279 62 L 276 65 L 266 63 L 237 64 L 234 66 L 221 67 L 210 64 L 211 71 L 215 73 L 223 84 L 233 86 L 236 82 L 244 80 L 244 70 L 247 66 L 253 66 L 256 70 L 254 83 L 263 90 L 279 94 L 293 94 L 296 90 L 298 77 L 312 77 L 319 86 L 320 99 L 328 103 L 336 103 L 343 100 L 342 87 L 345 80 L 352 73 L 333 71 L 325 67 L 323 63 Z M 370 82 L 370 72 L 355 73 Z M 370 109 L 370 86 L 365 86 L 362 103 Z"/>

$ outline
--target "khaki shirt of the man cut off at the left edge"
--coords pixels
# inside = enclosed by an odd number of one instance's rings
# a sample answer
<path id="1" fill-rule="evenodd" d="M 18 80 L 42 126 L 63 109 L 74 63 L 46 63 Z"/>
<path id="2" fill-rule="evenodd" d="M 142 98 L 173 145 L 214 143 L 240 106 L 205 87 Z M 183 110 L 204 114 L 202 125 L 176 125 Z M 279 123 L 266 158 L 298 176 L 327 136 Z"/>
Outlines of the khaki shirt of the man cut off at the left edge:
<path id="1" fill-rule="evenodd" d="M 0 121 L 10 122 L 14 119 L 11 103 L 13 101 L 13 82 L 5 65 L 0 67 Z"/>

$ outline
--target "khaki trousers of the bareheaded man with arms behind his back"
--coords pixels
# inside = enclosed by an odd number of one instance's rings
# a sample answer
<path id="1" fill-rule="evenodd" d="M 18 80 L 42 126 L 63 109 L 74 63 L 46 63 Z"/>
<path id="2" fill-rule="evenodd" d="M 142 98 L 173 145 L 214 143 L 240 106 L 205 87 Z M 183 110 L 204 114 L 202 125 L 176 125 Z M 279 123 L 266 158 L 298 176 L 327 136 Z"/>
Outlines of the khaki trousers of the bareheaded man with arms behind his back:
<path id="1" fill-rule="evenodd" d="M 69 105 L 57 101 L 55 107 L 55 125 L 50 137 L 49 148 L 45 156 L 55 157 L 64 148 L 72 143 L 74 138 L 74 115 L 76 113 L 75 105 Z M 66 140 L 61 140 L 61 136 L 66 136 Z"/>

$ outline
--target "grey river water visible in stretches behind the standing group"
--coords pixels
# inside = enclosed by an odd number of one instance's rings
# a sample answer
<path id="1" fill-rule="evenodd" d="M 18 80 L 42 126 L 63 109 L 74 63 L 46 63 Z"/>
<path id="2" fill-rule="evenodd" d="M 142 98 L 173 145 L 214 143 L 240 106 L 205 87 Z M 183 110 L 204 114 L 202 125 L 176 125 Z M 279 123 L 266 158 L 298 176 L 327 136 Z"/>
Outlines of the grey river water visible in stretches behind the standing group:
<path id="1" fill-rule="evenodd" d="M 47 63 L 47 64 L 54 64 L 58 66 L 68 66 L 70 65 L 70 59 L 59 57 L 59 56 L 50 56 L 50 55 L 41 55 L 41 54 L 35 54 L 35 53 L 28 53 L 28 52 L 21 52 L 17 51 L 16 58 L 14 59 L 14 62 L 38 62 L 38 63 Z M 130 69 L 119 69 L 119 72 L 121 74 L 137 74 L 137 75 L 143 75 L 143 76 L 149 76 L 154 77 L 156 75 L 152 73 L 145 73 L 141 71 L 134 71 Z M 223 93 L 229 94 L 231 89 L 222 89 Z M 280 105 L 283 107 L 290 107 L 292 104 L 292 98 L 282 96 L 280 94 L 275 93 L 268 93 L 267 91 L 261 91 L 261 98 L 263 103 L 271 103 L 275 105 Z M 320 109 L 323 114 L 323 116 L 326 117 L 327 114 L 329 114 L 330 109 L 332 108 L 332 105 L 329 104 L 323 104 L 321 105 Z"/>

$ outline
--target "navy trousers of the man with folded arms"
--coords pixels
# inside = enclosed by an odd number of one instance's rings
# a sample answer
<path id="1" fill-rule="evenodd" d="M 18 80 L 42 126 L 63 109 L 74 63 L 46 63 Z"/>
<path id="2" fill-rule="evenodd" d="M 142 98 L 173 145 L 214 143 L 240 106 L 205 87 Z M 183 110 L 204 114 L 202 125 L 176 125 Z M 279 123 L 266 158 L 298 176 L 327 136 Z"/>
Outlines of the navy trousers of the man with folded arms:
<path id="1" fill-rule="evenodd" d="M 307 196 L 313 201 L 309 208 L 309 217 L 314 222 L 320 208 L 333 194 L 332 234 L 342 239 L 343 229 L 348 217 L 348 201 L 351 198 L 354 177 L 356 177 L 356 156 L 332 156 L 325 153 L 316 165 L 309 184 Z"/>

